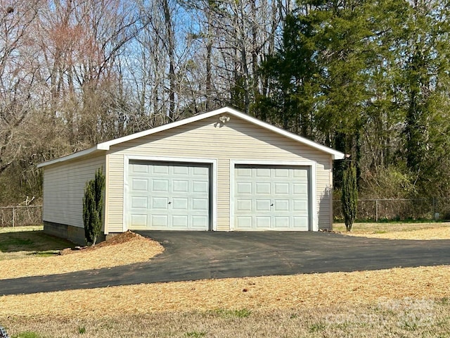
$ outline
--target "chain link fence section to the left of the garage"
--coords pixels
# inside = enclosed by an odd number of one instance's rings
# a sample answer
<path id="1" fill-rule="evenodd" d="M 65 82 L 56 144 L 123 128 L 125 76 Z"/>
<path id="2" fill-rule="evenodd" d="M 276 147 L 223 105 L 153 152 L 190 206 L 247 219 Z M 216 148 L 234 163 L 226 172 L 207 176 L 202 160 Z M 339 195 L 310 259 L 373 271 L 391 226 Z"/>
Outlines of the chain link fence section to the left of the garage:
<path id="1" fill-rule="evenodd" d="M 0 207 L 0 227 L 23 227 L 42 224 L 42 206 Z"/>

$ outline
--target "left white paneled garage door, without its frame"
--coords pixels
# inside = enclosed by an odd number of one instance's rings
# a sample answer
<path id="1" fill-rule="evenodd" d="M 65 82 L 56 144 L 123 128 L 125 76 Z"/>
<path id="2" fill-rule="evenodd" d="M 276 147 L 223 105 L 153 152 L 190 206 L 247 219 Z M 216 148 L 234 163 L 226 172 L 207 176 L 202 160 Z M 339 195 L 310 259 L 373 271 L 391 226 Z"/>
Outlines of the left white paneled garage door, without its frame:
<path id="1" fill-rule="evenodd" d="M 210 168 L 131 162 L 128 201 L 131 230 L 208 230 Z"/>

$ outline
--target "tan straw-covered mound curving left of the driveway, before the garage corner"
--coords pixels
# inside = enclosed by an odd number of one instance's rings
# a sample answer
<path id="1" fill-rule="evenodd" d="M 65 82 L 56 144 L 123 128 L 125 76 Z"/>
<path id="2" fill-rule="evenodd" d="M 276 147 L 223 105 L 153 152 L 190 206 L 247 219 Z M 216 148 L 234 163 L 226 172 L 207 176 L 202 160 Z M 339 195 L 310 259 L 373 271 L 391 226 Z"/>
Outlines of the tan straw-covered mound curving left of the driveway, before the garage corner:
<path id="1" fill-rule="evenodd" d="M 127 232 L 94 247 L 50 257 L 1 261 L 0 279 L 72 273 L 148 261 L 164 248 L 155 241 Z M 67 252 L 66 252 L 67 253 Z"/>

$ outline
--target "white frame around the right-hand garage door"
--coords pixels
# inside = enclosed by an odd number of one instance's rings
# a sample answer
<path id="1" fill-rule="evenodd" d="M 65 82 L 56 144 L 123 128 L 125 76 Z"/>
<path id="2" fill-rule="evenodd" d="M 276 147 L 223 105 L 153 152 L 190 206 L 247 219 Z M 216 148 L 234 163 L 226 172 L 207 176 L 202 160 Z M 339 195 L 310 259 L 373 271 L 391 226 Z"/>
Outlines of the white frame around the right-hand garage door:
<path id="1" fill-rule="evenodd" d="M 309 167 L 309 224 L 312 231 L 319 231 L 319 223 L 317 223 L 317 203 L 316 203 L 316 162 L 315 161 L 258 161 L 258 160 L 230 160 L 230 230 L 234 228 L 234 185 L 236 177 L 234 175 L 236 164 L 248 165 L 272 165 L 274 167 L 280 165 L 288 165 L 291 167 Z"/>

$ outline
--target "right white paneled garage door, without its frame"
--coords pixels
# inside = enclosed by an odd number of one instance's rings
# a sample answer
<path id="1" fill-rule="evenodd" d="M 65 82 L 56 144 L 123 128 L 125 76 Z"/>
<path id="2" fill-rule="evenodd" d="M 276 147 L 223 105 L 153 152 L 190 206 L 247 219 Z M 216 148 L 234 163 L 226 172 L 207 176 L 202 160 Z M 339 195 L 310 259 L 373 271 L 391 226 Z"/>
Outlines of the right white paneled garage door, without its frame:
<path id="1" fill-rule="evenodd" d="M 309 230 L 308 167 L 236 165 L 236 230 Z"/>

